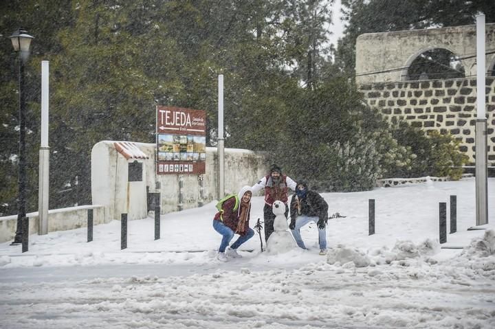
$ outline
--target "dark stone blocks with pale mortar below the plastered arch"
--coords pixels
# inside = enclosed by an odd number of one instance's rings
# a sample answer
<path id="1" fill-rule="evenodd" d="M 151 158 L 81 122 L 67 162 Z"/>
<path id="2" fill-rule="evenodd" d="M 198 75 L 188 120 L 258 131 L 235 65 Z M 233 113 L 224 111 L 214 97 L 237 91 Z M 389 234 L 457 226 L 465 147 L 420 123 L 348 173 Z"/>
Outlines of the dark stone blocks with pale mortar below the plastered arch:
<path id="1" fill-rule="evenodd" d="M 474 163 L 476 78 L 360 84 L 366 102 L 389 122 L 450 133 Z M 495 78 L 486 78 L 488 166 L 495 165 Z"/>

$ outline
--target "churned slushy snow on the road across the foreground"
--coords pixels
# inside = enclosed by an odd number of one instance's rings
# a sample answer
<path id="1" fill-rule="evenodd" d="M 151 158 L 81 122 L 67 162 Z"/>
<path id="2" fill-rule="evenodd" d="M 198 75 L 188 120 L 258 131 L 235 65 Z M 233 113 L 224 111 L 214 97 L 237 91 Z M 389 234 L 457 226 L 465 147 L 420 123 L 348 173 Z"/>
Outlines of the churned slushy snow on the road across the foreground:
<path id="1" fill-rule="evenodd" d="M 352 256 L 354 259 L 355 256 Z M 495 264 L 408 258 L 5 283 L 2 328 L 493 328 Z M 351 258 L 350 258 L 351 259 Z M 139 265 L 137 265 L 139 266 Z M 485 266 L 485 269 L 483 269 Z M 173 266 L 172 266 L 173 267 Z M 72 271 L 78 271 L 77 268 Z M 192 266 L 181 271 L 192 273 Z M 205 269 L 202 269 L 203 271 Z M 174 275 L 175 274 L 175 275 Z"/>

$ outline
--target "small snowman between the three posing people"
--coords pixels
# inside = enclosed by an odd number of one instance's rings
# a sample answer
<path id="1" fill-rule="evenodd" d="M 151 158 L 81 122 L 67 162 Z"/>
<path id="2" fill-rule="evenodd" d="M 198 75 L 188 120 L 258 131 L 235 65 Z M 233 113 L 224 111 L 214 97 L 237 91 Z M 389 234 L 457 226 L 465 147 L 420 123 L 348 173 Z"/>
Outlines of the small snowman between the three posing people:
<path id="1" fill-rule="evenodd" d="M 275 201 L 272 205 L 272 212 L 275 214 L 274 232 L 267 240 L 267 253 L 285 253 L 296 247 L 296 242 L 292 234 L 287 231 L 287 218 L 285 218 L 285 203 Z"/>

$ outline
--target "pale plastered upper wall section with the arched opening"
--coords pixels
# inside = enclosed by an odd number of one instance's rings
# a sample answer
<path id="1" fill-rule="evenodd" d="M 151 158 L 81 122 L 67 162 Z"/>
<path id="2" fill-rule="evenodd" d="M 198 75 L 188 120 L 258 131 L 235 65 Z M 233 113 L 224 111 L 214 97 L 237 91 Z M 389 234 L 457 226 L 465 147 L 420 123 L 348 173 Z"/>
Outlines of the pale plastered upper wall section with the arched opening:
<path id="1" fill-rule="evenodd" d="M 486 48 L 495 44 L 495 23 L 486 24 Z M 407 67 L 417 56 L 434 48 L 447 49 L 461 60 L 466 76 L 476 76 L 476 25 L 439 29 L 366 33 L 356 40 L 355 71 L 358 84 L 404 81 Z M 486 71 L 495 54 L 486 56 Z M 399 68 L 406 67 L 400 70 Z M 399 69 L 377 74 L 360 74 Z"/>

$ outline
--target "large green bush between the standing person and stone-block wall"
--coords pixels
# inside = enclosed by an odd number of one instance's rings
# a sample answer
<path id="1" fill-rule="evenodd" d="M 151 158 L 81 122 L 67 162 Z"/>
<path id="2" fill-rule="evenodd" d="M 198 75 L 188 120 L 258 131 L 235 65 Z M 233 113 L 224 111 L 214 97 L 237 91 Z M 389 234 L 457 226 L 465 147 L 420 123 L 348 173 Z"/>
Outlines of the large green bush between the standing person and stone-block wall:
<path id="1" fill-rule="evenodd" d="M 412 169 L 411 148 L 399 144 L 355 86 L 333 80 L 305 93 L 298 122 L 273 151 L 274 161 L 285 163 L 294 177 L 317 190 L 351 192 L 371 190 L 397 168 Z"/>

